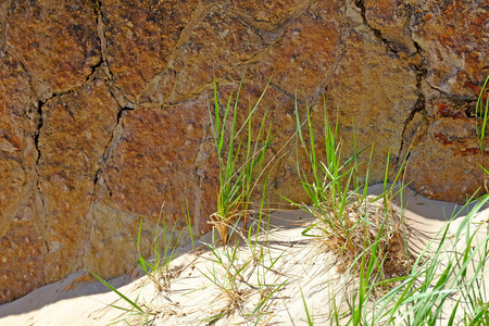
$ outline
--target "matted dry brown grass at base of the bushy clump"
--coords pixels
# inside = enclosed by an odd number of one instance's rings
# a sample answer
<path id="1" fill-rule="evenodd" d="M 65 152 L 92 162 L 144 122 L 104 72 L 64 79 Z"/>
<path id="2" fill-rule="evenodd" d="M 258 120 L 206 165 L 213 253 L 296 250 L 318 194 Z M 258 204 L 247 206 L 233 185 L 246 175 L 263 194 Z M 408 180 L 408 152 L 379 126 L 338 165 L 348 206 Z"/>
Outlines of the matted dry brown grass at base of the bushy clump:
<path id="1" fill-rule="evenodd" d="M 324 221 L 324 216 L 316 217 Z M 414 253 L 406 246 L 406 235 L 411 231 L 389 201 L 350 203 L 344 208 L 342 217 L 348 234 L 333 230 L 330 225 L 319 222 L 325 233 L 318 238 L 322 247 L 331 253 L 339 273 L 359 276 L 362 268 L 366 271 L 377 240 L 375 274 L 391 278 L 410 273 L 415 261 Z"/>

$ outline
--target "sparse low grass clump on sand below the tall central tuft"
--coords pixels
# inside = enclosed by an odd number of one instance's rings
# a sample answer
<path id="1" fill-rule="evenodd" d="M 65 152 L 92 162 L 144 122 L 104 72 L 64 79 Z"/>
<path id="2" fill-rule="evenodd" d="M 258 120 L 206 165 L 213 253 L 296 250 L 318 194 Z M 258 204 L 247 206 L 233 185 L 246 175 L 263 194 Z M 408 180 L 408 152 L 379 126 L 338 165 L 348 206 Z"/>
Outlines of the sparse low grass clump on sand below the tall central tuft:
<path id="1" fill-rule="evenodd" d="M 262 243 L 258 244 L 258 241 L 253 242 L 254 237 L 250 236 L 250 233 L 248 237 L 244 236 L 237 223 L 231 227 L 230 236 L 235 233 L 239 237 L 226 246 L 216 246 L 217 241 L 214 238 L 209 243 L 204 242 L 211 253 L 211 258 L 208 259 L 211 265 L 208 265 L 205 271 L 198 269 L 218 290 L 217 297 L 212 302 L 225 301 L 225 304 L 218 305 L 217 309 L 210 309 L 208 311 L 210 316 L 204 321 L 212 324 L 237 314 L 244 321 L 258 325 L 264 316 L 271 317 L 267 311 L 271 298 L 287 283 L 287 279 L 278 283 L 278 277 L 269 281 L 269 274 L 275 273 L 272 271 L 278 265 L 284 253 L 273 258 L 269 248 Z M 240 239 L 246 241 L 246 246 L 240 244 Z M 255 281 L 253 276 L 256 277 Z"/>

